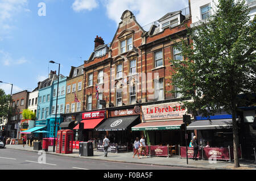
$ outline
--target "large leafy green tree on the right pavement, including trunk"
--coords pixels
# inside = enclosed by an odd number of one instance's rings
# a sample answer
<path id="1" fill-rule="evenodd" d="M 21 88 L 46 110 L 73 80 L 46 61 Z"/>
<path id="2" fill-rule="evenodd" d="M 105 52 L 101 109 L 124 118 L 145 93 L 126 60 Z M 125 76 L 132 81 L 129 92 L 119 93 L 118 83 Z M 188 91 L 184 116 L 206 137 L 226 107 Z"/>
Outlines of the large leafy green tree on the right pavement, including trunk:
<path id="1" fill-rule="evenodd" d="M 177 48 L 184 60 L 171 60 L 174 68 L 171 83 L 179 87 L 184 106 L 194 115 L 204 116 L 224 110 L 232 114 L 234 166 L 238 162 L 237 105 L 240 94 L 256 88 L 255 18 L 249 22 L 245 1 L 219 0 L 207 22 L 187 28 L 189 40 Z"/>

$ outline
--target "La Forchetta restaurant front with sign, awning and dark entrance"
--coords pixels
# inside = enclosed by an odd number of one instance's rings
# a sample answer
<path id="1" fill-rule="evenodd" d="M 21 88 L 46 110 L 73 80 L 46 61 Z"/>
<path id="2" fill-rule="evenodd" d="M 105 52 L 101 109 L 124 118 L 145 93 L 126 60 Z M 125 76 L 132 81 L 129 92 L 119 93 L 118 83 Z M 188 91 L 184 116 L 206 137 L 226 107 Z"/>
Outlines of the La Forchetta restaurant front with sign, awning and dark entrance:
<path id="1" fill-rule="evenodd" d="M 142 131 L 147 145 L 170 146 L 169 153 L 177 154 L 178 145 L 185 145 L 182 128 L 183 115 L 186 113 L 187 109 L 179 102 L 142 106 L 142 123 L 131 129 L 134 132 Z"/>

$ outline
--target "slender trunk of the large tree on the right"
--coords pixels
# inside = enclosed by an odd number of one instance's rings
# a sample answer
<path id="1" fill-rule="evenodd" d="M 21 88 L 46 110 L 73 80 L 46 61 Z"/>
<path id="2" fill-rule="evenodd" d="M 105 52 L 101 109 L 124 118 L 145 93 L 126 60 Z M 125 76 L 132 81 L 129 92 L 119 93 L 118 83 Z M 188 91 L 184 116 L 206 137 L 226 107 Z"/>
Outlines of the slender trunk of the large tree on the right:
<path id="1" fill-rule="evenodd" d="M 236 110 L 232 109 L 232 125 L 233 125 L 233 152 L 234 152 L 234 167 L 240 167 L 238 160 L 238 127 L 236 120 Z"/>

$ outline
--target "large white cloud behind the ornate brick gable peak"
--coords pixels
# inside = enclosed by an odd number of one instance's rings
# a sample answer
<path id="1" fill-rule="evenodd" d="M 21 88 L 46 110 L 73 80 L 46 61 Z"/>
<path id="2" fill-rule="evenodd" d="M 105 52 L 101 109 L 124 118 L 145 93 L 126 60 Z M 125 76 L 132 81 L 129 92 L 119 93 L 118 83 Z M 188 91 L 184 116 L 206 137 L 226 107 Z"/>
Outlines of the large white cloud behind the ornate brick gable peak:
<path id="1" fill-rule="evenodd" d="M 187 0 L 104 0 L 108 18 L 117 24 L 121 22 L 123 11 L 130 10 L 141 26 L 162 18 L 165 14 L 188 6 Z"/>

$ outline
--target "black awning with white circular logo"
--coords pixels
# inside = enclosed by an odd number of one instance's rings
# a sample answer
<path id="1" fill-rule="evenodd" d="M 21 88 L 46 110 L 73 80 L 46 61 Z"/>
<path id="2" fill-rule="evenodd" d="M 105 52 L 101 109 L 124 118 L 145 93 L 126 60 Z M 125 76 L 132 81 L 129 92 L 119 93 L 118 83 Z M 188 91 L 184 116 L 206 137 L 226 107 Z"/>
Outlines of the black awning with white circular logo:
<path id="1" fill-rule="evenodd" d="M 139 116 L 111 117 L 95 128 L 96 131 L 124 131 L 129 127 Z"/>

